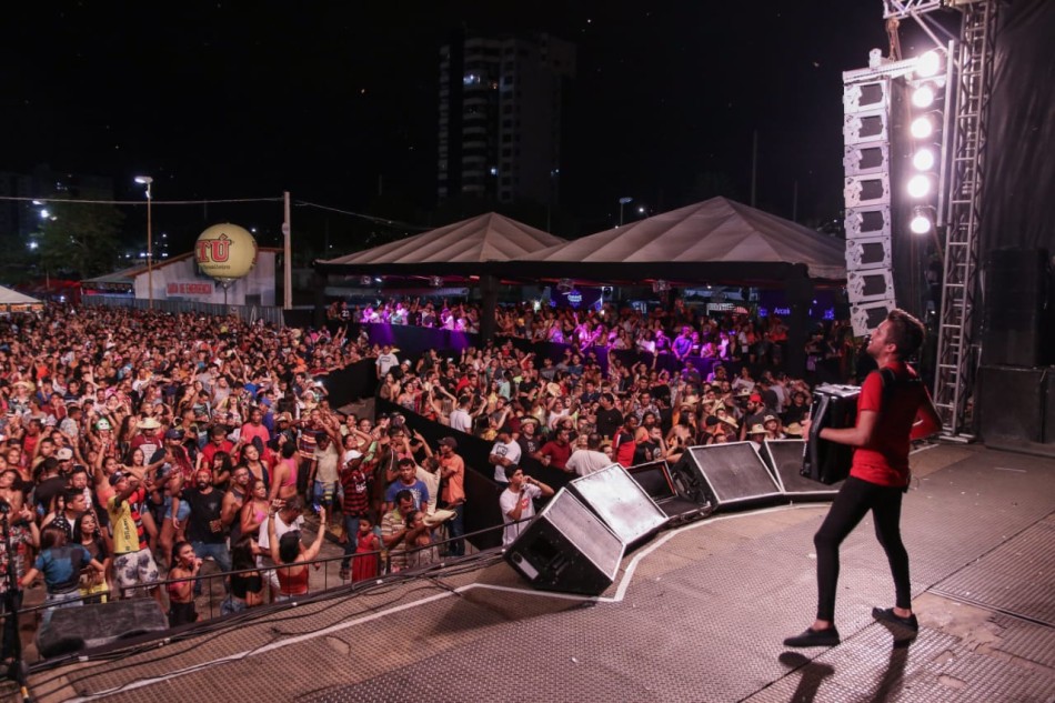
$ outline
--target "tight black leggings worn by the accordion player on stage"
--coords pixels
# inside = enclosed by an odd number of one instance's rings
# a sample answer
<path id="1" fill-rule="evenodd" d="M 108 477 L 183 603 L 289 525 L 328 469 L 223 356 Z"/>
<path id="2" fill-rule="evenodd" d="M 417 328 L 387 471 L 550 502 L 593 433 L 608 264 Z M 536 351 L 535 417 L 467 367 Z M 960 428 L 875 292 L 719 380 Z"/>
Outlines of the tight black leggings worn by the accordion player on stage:
<path id="1" fill-rule="evenodd" d="M 894 604 L 912 607 L 908 582 L 908 552 L 901 541 L 901 499 L 903 490 L 877 485 L 850 476 L 840 489 L 827 518 L 813 544 L 817 549 L 817 620 L 835 620 L 835 589 L 838 583 L 838 546 L 861 520 L 872 511 L 875 536 L 886 552 L 894 576 Z"/>

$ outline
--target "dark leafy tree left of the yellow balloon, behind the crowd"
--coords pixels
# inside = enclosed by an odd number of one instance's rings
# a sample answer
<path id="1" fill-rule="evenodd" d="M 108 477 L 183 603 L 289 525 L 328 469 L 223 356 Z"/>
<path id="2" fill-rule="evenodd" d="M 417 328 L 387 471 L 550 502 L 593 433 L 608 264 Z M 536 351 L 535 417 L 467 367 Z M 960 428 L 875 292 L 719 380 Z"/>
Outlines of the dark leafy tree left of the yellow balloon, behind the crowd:
<path id="1" fill-rule="evenodd" d="M 113 205 L 51 201 L 40 228 L 44 270 L 91 278 L 113 271 L 124 215 Z"/>

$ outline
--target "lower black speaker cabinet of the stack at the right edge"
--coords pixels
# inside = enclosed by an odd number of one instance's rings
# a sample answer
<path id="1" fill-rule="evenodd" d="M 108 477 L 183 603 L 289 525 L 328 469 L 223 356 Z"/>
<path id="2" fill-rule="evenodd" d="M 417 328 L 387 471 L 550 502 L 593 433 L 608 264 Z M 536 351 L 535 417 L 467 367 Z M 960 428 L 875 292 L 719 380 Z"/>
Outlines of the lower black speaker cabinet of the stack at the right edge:
<path id="1" fill-rule="evenodd" d="M 982 366 L 982 440 L 987 446 L 1014 450 L 1045 441 L 1047 375 L 1048 369 Z"/>

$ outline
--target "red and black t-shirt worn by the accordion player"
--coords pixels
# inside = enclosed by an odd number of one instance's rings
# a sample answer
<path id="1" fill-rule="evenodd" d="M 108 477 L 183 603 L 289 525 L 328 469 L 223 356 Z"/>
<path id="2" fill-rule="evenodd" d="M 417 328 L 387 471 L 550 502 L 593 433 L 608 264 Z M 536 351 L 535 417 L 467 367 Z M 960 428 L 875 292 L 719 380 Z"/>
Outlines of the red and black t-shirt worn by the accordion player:
<path id="1" fill-rule="evenodd" d="M 893 361 L 885 368 L 892 370 L 900 381 L 918 379 L 915 370 L 902 361 Z M 857 399 L 857 421 L 866 410 L 877 412 L 878 418 L 872 442 L 854 451 L 850 475 L 878 485 L 907 485 L 910 434 L 916 413 L 926 399 L 927 390 L 922 382 L 895 382 L 884 390 L 880 372 L 870 373 Z"/>

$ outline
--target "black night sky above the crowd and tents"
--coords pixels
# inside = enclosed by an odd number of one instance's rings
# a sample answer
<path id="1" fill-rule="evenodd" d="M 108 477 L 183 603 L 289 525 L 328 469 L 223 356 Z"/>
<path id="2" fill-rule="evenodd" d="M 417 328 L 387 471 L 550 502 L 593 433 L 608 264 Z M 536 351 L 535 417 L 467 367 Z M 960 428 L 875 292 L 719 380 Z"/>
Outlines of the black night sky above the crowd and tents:
<path id="1" fill-rule="evenodd" d="M 550 32 L 577 51 L 562 204 L 580 233 L 611 227 L 620 197 L 662 211 L 717 182 L 747 202 L 755 131 L 758 207 L 791 217 L 797 183 L 800 221 L 835 217 L 842 71 L 886 51 L 880 0 L 46 1 L 7 14 L 0 170 L 108 175 L 118 199 L 141 198 L 132 177 L 149 173 L 159 205 L 289 190 L 362 212 L 381 183 L 422 224 L 444 223 L 425 214 L 439 47 L 460 26 Z"/>

